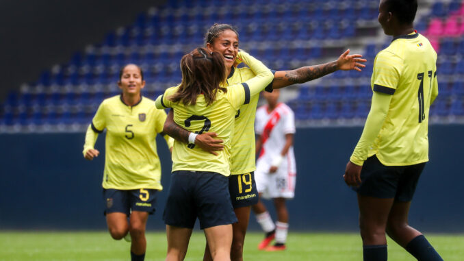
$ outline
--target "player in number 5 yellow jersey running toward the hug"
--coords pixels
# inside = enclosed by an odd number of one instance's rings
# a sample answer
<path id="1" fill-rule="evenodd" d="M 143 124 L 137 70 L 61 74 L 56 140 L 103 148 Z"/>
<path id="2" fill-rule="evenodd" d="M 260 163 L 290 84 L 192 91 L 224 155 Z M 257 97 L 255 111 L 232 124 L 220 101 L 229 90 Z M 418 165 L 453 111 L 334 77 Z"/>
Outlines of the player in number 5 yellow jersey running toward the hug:
<path id="1" fill-rule="evenodd" d="M 87 160 L 99 156 L 96 138 L 107 129 L 103 197 L 109 234 L 116 240 L 131 238 L 131 259 L 144 260 L 146 221 L 162 190 L 155 138 L 162 134 L 166 112 L 142 97 L 145 81 L 140 67 L 127 64 L 119 77 L 123 92 L 101 103 L 87 129 L 83 156 Z M 164 138 L 171 149 L 172 138 Z"/>

